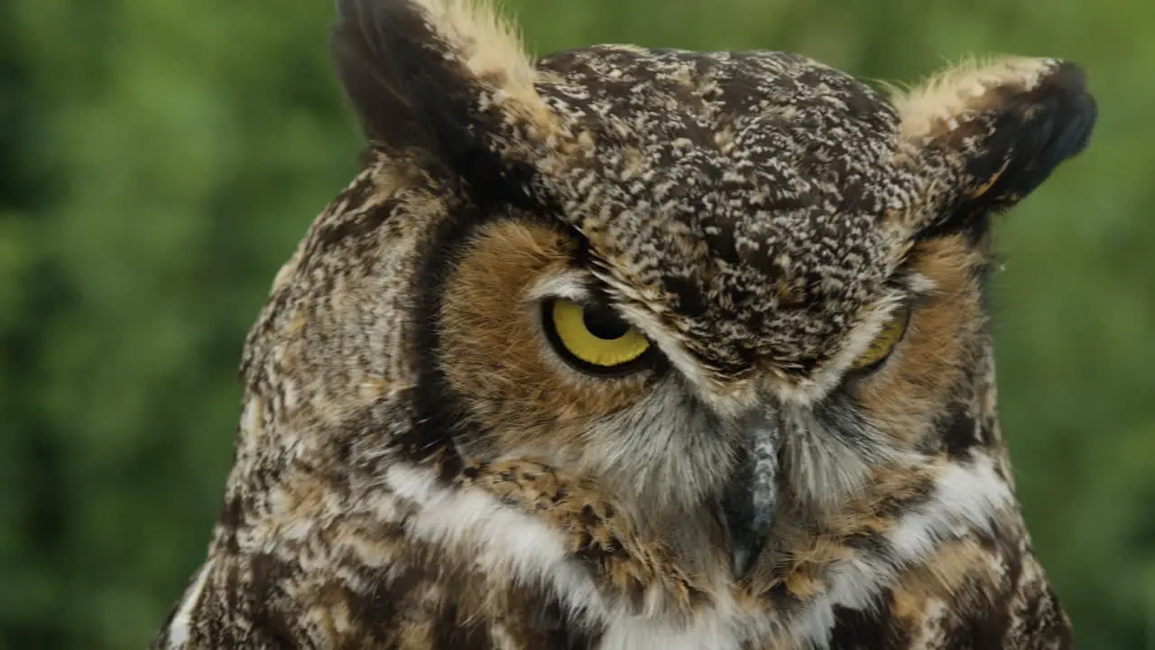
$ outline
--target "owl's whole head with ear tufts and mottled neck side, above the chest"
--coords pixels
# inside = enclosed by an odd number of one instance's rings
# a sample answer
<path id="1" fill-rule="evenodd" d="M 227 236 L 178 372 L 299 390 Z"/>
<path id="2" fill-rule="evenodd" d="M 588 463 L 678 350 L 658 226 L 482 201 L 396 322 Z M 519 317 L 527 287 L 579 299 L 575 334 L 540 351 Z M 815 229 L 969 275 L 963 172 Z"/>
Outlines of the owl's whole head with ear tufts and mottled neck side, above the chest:
<path id="1" fill-rule="evenodd" d="M 882 93 L 784 52 L 531 60 L 467 0 L 337 8 L 366 164 L 247 341 L 218 544 L 275 490 L 312 504 L 293 520 L 335 516 L 285 486 L 529 459 L 691 573 L 777 584 L 815 531 L 840 556 L 917 551 L 934 535 L 904 515 L 1012 498 L 992 217 L 1086 147 L 1075 65 Z"/>

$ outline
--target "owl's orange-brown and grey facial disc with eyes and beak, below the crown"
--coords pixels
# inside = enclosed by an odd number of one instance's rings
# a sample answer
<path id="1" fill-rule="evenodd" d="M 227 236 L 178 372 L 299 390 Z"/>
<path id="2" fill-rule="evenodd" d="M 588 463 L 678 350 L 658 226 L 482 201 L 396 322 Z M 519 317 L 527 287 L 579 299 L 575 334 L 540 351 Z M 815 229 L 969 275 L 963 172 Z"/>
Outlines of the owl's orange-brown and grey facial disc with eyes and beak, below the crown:
<path id="1" fill-rule="evenodd" d="M 703 311 L 732 303 L 686 313 L 677 296 L 672 306 L 661 302 L 668 296 L 647 300 L 653 285 L 624 281 L 632 269 L 572 229 L 502 215 L 463 241 L 446 275 L 432 350 L 439 401 L 456 408 L 455 442 L 467 457 L 535 458 L 593 477 L 636 504 L 639 520 L 714 503 L 748 561 L 781 481 L 805 507 L 836 510 L 872 464 L 938 436 L 939 414 L 970 408 L 974 397 L 953 400 L 982 379 L 989 259 L 959 234 L 895 248 L 886 260 L 893 271 L 833 337 L 834 349 L 820 348 L 825 363 L 791 371 L 737 337 L 747 362 L 726 367 L 708 352 L 726 339 L 687 332 L 686 322 L 709 323 Z M 702 251 L 705 260 L 717 254 Z M 807 309 L 815 308 L 798 308 Z M 804 337 L 808 320 L 798 320 L 789 334 Z"/>

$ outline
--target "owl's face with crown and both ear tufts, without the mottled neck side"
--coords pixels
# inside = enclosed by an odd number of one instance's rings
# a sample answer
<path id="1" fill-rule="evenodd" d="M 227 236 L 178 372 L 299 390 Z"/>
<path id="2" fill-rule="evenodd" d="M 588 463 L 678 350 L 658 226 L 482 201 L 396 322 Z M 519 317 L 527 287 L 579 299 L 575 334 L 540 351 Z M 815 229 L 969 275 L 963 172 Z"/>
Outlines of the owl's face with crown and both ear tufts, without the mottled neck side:
<path id="1" fill-rule="evenodd" d="M 424 449 L 705 522 L 740 575 L 777 512 L 990 442 L 989 217 L 1086 145 L 1078 68 L 886 97 L 796 54 L 531 65 L 464 5 L 343 6 L 382 177 L 445 213 L 413 276 Z"/>

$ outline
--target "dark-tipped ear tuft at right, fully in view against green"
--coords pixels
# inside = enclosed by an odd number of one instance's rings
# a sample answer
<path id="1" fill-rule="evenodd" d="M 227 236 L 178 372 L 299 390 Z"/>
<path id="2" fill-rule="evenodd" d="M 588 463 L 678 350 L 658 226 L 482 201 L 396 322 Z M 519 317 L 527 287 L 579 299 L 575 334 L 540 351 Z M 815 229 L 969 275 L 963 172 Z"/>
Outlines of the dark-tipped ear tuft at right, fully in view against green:
<path id="1" fill-rule="evenodd" d="M 938 193 L 934 230 L 1021 201 L 1087 148 L 1098 112 L 1083 71 L 1055 59 L 954 68 L 895 104 L 900 138 Z"/>

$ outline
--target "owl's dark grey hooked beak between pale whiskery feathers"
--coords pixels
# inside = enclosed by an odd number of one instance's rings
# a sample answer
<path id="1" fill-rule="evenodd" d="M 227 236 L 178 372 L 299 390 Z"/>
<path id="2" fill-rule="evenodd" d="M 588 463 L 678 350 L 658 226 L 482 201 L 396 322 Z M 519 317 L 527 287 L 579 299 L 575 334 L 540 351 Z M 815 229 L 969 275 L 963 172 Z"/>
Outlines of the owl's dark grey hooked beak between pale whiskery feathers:
<path id="1" fill-rule="evenodd" d="M 738 472 L 722 496 L 735 579 L 745 578 L 757 564 L 777 501 L 777 430 L 768 423 L 748 430 Z"/>

